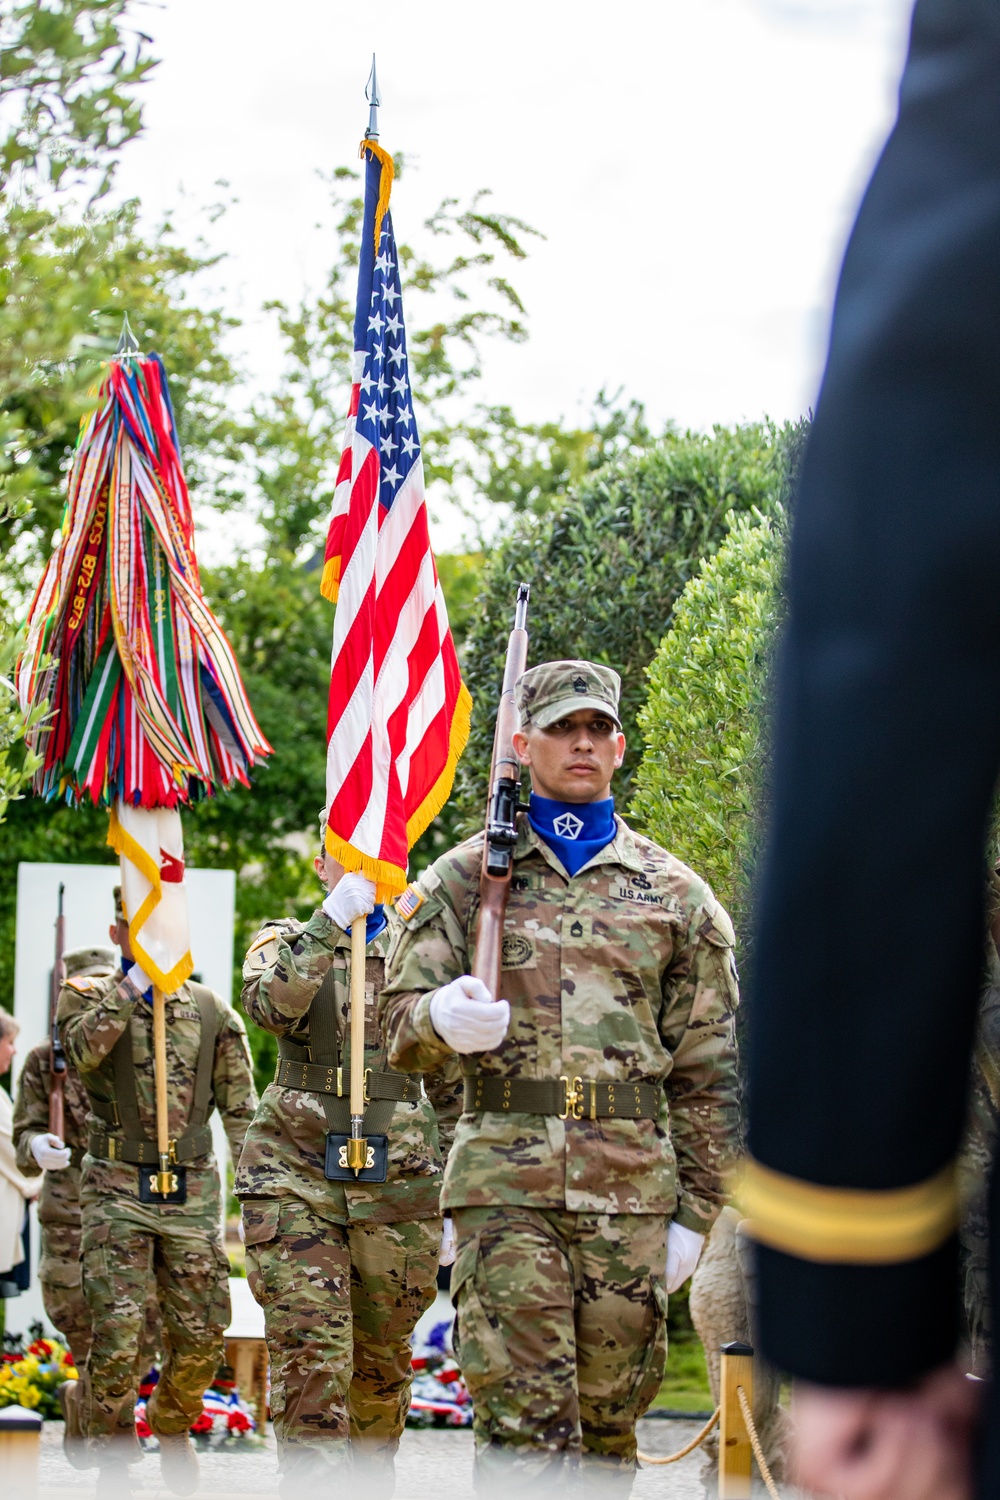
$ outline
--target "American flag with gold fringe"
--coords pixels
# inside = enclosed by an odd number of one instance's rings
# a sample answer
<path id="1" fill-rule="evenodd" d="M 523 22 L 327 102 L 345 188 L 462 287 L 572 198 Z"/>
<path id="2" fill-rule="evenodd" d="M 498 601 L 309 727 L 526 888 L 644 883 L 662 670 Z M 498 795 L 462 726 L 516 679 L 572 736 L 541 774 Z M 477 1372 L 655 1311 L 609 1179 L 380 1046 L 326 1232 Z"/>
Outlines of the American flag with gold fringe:
<path id="1" fill-rule="evenodd" d="M 393 160 L 373 141 L 354 322 L 354 384 L 327 536 L 322 592 L 336 602 L 327 712 L 327 848 L 391 900 L 409 849 L 441 810 L 469 734 L 430 550 L 399 256 Z"/>

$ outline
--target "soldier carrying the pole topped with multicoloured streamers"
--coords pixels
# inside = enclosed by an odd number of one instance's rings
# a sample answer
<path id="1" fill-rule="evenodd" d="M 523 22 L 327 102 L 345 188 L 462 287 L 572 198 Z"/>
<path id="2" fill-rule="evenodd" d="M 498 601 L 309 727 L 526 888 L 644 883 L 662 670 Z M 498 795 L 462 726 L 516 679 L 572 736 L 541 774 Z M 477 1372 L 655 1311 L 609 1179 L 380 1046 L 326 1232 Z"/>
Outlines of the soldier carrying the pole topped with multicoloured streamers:
<path id="1" fill-rule="evenodd" d="M 132 958 L 120 890 L 111 938 L 121 950 L 121 968 L 106 978 L 67 980 L 58 999 L 63 1047 L 90 1104 L 79 1197 L 93 1344 L 81 1380 L 67 1392 L 67 1438 L 87 1440 L 85 1456 L 111 1484 L 123 1480 L 121 1464 L 136 1456 L 133 1437 L 130 1444 L 114 1438 L 132 1422 L 151 1270 L 168 1347 L 147 1419 L 168 1486 L 190 1494 L 198 1462 L 187 1428 L 201 1413 L 229 1323 L 229 1263 L 208 1118 L 219 1110 L 238 1160 L 256 1095 L 240 1017 L 201 984 L 183 984 L 166 996 L 169 1136 L 186 1168 L 187 1197 L 183 1204 L 139 1202 L 139 1164 L 159 1161 L 153 992 Z"/>

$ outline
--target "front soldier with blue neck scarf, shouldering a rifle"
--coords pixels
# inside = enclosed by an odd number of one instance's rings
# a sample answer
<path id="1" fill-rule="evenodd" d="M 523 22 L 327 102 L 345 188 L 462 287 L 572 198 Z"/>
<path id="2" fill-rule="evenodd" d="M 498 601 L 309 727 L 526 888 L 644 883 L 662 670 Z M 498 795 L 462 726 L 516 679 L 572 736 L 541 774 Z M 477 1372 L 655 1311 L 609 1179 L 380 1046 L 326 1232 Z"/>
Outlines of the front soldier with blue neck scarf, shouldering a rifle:
<path id="1" fill-rule="evenodd" d="M 469 976 L 481 836 L 397 902 L 381 999 L 391 1064 L 463 1054 L 442 1203 L 475 1478 L 490 1492 L 577 1467 L 628 1492 L 636 1419 L 663 1378 L 667 1292 L 720 1212 L 733 1140 L 733 928 L 703 880 L 613 812 L 618 693 L 589 662 L 517 682 L 532 800 L 504 999 Z"/>

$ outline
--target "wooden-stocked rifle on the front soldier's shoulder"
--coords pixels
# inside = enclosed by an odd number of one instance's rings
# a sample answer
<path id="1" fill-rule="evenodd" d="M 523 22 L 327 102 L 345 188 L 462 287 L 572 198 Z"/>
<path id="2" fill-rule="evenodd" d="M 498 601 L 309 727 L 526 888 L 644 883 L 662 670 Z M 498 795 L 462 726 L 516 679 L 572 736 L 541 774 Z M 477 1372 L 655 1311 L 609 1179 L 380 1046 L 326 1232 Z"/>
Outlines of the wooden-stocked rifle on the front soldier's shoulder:
<path id="1" fill-rule="evenodd" d="M 514 754 L 514 730 L 517 729 L 514 682 L 528 666 L 528 592 L 526 584 L 517 585 L 514 628 L 507 642 L 504 686 L 496 708 L 490 796 L 486 808 L 486 842 L 480 872 L 480 932 L 475 940 L 472 974 L 483 981 L 495 1000 L 499 999 L 504 914 L 514 866 L 514 844 L 517 843 L 520 760 Z"/>

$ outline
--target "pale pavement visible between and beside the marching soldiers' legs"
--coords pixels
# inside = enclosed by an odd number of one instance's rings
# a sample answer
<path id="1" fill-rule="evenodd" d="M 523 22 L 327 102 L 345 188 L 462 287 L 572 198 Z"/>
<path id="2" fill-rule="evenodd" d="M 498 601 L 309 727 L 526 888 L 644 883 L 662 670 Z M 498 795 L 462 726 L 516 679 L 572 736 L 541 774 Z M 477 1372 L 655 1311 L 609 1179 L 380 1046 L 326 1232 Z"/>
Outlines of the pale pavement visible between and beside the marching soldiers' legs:
<path id="1" fill-rule="evenodd" d="M 645 1420 L 639 1424 L 639 1446 L 649 1454 L 670 1454 L 694 1437 L 700 1422 Z M 79 1473 L 63 1458 L 61 1422 L 46 1422 L 42 1437 L 39 1500 L 93 1500 L 94 1472 Z M 267 1432 L 262 1448 L 225 1449 L 199 1454 L 201 1485 L 198 1496 L 211 1500 L 255 1500 L 277 1492 L 274 1438 Z M 643 1468 L 633 1488 L 633 1500 L 714 1500 L 715 1473 L 702 1482 L 705 1460 L 700 1452 L 667 1468 Z M 136 1500 L 172 1500 L 160 1480 L 154 1454 L 132 1470 Z M 471 1500 L 472 1434 L 459 1431 L 408 1430 L 396 1460 L 396 1500 Z M 763 1492 L 763 1491 L 762 1491 Z"/>

